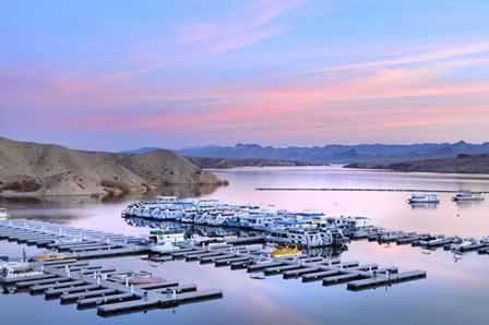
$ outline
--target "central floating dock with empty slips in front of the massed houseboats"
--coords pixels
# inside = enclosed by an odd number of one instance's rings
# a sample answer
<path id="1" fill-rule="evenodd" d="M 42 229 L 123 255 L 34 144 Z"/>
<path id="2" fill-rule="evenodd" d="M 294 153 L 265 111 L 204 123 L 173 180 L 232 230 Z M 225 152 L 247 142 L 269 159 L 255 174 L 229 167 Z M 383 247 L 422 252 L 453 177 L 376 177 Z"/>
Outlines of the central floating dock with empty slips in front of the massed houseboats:
<path id="1" fill-rule="evenodd" d="M 392 286 L 404 281 L 427 277 L 424 270 L 399 273 L 396 267 L 379 267 L 375 263 L 342 262 L 325 257 L 310 257 L 307 254 L 282 257 L 279 260 L 260 261 L 253 250 L 229 246 L 182 248 L 182 252 L 157 254 L 166 261 L 184 260 L 201 264 L 214 264 L 215 267 L 246 269 L 247 273 L 260 273 L 264 277 L 282 275 L 284 279 L 300 278 L 302 282 L 322 281 L 324 287 L 347 284 L 348 290 L 359 291 L 377 287 Z M 368 285 L 362 285 L 366 281 Z M 350 285 L 351 284 L 351 285 Z"/>

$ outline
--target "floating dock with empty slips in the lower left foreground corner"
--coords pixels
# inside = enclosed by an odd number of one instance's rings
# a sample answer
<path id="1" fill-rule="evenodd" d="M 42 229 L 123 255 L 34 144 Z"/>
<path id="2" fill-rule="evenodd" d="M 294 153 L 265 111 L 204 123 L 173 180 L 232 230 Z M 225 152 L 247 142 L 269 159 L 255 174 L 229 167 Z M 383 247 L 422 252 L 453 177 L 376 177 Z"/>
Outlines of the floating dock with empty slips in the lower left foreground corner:
<path id="1" fill-rule="evenodd" d="M 70 260 L 64 262 L 59 261 L 56 265 L 37 263 L 36 270 L 41 274 L 8 278 L 0 284 L 10 291 L 27 290 L 32 294 L 44 294 L 46 299 L 59 299 L 62 304 L 74 303 L 79 309 L 96 308 L 102 316 L 223 297 L 223 292 L 217 289 L 198 290 L 195 285 L 180 285 L 171 280 L 146 285 L 129 285 L 129 280 L 127 285 L 119 284 L 103 273 L 102 266 L 88 264 L 81 268 Z M 93 272 L 85 273 L 86 269 Z M 128 272 L 112 270 L 110 274 Z"/>

